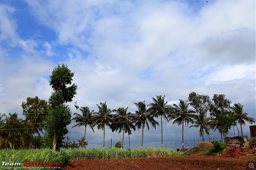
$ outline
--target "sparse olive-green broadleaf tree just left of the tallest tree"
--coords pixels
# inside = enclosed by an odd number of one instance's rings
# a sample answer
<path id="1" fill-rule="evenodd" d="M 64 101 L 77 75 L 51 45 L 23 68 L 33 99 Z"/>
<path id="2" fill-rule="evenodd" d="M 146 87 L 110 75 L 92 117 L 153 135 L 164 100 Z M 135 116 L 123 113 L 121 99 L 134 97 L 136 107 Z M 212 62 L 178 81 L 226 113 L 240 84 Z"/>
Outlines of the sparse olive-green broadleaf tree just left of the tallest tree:
<path id="1" fill-rule="evenodd" d="M 29 140 L 29 149 L 31 148 L 32 138 L 35 135 L 40 136 L 39 132 L 43 133 L 43 123 L 47 113 L 47 101 L 40 100 L 38 96 L 35 98 L 28 97 L 27 102 L 23 101 L 21 104 L 23 109 L 23 115 L 25 116 L 25 121 L 31 125 L 31 136 Z"/>

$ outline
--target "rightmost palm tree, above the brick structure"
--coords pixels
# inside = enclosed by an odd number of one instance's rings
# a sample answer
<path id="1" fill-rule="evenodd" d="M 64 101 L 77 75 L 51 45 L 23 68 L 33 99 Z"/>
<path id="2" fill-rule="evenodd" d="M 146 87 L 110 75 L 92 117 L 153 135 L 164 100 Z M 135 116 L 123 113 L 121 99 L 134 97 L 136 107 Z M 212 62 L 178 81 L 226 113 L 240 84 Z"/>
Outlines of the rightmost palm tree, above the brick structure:
<path id="1" fill-rule="evenodd" d="M 241 106 L 240 103 L 236 103 L 234 104 L 233 107 L 230 107 L 229 109 L 232 110 L 234 112 L 234 114 L 232 115 L 233 117 L 235 117 L 235 120 L 238 121 L 238 123 L 240 124 L 241 127 L 241 134 L 243 136 L 243 129 L 242 129 L 242 124 L 245 126 L 245 122 L 249 122 L 249 123 L 255 123 L 255 119 L 251 118 L 251 117 L 247 117 L 247 113 L 243 113 L 243 107 L 244 105 Z"/>

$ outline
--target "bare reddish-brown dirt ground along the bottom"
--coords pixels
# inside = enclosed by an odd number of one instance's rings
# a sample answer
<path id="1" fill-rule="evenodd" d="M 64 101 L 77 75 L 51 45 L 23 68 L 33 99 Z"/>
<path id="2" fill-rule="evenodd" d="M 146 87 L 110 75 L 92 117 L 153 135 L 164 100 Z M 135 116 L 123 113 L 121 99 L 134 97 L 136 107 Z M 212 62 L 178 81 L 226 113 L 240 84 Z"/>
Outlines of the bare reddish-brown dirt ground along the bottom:
<path id="1" fill-rule="evenodd" d="M 250 164 L 252 163 L 252 164 Z M 250 164 L 250 167 L 249 167 Z M 64 170 L 157 170 L 157 169 L 254 169 L 255 156 L 221 157 L 221 156 L 191 156 L 182 158 L 145 158 L 122 160 L 74 160 L 65 165 Z"/>

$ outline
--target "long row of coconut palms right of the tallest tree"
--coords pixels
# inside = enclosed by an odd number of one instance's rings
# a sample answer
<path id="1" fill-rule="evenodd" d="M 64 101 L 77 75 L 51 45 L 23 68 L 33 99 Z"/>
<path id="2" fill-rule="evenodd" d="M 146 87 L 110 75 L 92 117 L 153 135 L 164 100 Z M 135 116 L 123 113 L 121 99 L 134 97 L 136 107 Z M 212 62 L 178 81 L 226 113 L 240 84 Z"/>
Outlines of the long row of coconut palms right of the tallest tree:
<path id="1" fill-rule="evenodd" d="M 215 110 L 210 113 L 210 117 L 205 118 L 204 115 L 196 113 L 193 109 L 188 109 L 189 101 L 188 100 L 179 100 L 180 103 L 178 105 L 173 104 L 173 106 L 168 105 L 168 102 L 164 100 L 165 96 L 156 96 L 156 98 L 152 98 L 153 102 L 146 105 L 145 100 L 134 103 L 137 107 L 135 114 L 131 112 L 127 113 L 128 107 L 119 107 L 118 109 L 111 110 L 107 107 L 106 101 L 97 105 L 99 111 L 94 112 L 94 110 L 90 111 L 89 107 L 81 107 L 80 111 L 82 115 L 78 113 L 74 113 L 75 117 L 72 120 L 75 120 L 77 123 L 74 127 L 85 126 L 84 130 L 84 139 L 86 134 L 87 125 L 94 132 L 93 127 L 97 126 L 98 130 L 103 130 L 103 148 L 105 145 L 105 128 L 106 126 L 114 131 L 118 131 L 118 133 L 123 133 L 121 148 L 123 148 L 124 142 L 124 133 L 128 133 L 130 135 L 131 129 L 135 131 L 135 129 L 142 130 L 142 140 L 141 140 L 141 148 L 143 146 L 143 135 L 145 126 L 149 130 L 149 124 L 156 129 L 156 125 L 159 126 L 159 123 L 154 118 L 161 119 L 161 144 L 163 147 L 163 119 L 166 121 L 173 120 L 173 124 L 182 125 L 182 149 L 184 149 L 184 123 L 185 126 L 188 126 L 189 123 L 194 124 L 190 127 L 199 128 L 199 134 L 203 137 L 206 132 L 209 134 L 209 129 L 219 130 L 221 137 L 222 134 L 228 134 L 228 129 L 232 126 L 236 125 L 236 121 L 241 126 L 245 125 L 244 121 L 249 123 L 254 123 L 255 119 L 247 117 L 247 113 L 243 113 L 243 106 L 239 103 L 235 104 L 233 107 L 230 107 L 231 111 L 225 110 Z M 147 106 L 149 107 L 147 109 Z M 221 115 L 221 116 L 220 116 Z M 243 135 L 243 132 L 242 132 Z M 210 137 L 209 137 L 210 139 Z"/>

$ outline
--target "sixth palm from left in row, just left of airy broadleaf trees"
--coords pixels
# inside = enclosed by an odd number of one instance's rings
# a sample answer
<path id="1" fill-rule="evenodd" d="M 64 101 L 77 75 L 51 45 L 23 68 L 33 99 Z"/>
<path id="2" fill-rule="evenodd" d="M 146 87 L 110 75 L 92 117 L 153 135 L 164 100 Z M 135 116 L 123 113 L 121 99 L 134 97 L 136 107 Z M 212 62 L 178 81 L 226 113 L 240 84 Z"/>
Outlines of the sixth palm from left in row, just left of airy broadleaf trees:
<path id="1" fill-rule="evenodd" d="M 173 108 L 173 113 L 175 116 L 175 120 L 173 121 L 172 124 L 178 124 L 178 126 L 180 126 L 182 124 L 182 150 L 184 149 L 184 137 L 183 137 L 183 130 L 184 130 L 184 122 L 185 122 L 185 126 L 188 123 L 191 122 L 193 123 L 193 117 L 194 114 L 192 113 L 192 110 L 188 109 L 188 105 L 189 102 L 188 100 L 180 100 L 180 104 L 179 106 L 176 104 L 173 104 L 174 108 Z M 173 115 L 170 115 L 168 117 L 173 117 Z"/>

